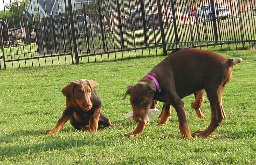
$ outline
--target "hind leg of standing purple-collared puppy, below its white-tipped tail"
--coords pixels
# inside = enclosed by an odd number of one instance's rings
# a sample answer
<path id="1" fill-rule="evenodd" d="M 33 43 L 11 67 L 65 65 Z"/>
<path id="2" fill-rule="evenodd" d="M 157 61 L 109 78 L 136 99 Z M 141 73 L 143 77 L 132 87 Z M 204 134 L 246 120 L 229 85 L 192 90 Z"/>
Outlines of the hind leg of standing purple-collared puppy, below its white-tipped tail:
<path id="1" fill-rule="evenodd" d="M 215 88 L 216 89 L 216 88 Z M 206 90 L 207 97 L 210 102 L 211 106 L 211 114 L 212 114 L 212 120 L 209 125 L 209 127 L 203 131 L 198 130 L 195 132 L 194 136 L 203 136 L 208 137 L 216 128 L 221 125 L 223 120 L 225 119 L 226 115 L 222 107 L 222 91 L 223 89 L 221 87 L 218 88 L 218 90 Z"/>

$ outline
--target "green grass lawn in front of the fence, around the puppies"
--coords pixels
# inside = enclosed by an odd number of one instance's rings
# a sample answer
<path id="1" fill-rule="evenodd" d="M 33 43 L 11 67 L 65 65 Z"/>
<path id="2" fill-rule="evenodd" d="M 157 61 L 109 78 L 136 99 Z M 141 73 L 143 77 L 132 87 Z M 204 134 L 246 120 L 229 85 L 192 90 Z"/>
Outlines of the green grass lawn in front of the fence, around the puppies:
<path id="1" fill-rule="evenodd" d="M 244 61 L 234 68 L 223 93 L 227 117 L 207 139 L 182 139 L 173 108 L 167 126 L 156 126 L 154 118 L 140 136 L 123 137 L 136 127 L 124 118 L 131 111 L 129 96 L 122 100 L 126 87 L 163 56 L 0 71 L 0 164 L 255 164 L 256 51 L 220 53 Z M 44 135 L 65 108 L 62 88 L 78 79 L 99 83 L 102 111 L 115 126 L 89 133 L 67 122 L 60 133 Z M 211 120 L 208 100 L 202 106 L 204 119 L 190 107 L 192 95 L 183 101 L 191 132 L 205 129 Z"/>

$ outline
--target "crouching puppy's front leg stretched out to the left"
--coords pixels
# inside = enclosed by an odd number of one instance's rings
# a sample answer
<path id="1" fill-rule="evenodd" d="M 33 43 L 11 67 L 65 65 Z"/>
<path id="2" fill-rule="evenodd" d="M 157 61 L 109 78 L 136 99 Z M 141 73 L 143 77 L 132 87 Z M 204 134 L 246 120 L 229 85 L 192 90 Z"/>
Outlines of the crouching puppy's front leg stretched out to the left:
<path id="1" fill-rule="evenodd" d="M 63 111 L 61 118 L 58 120 L 55 128 L 52 130 L 47 130 L 44 134 L 46 135 L 46 134 L 54 134 L 54 133 L 60 132 L 64 124 L 69 120 L 72 114 L 73 114 L 73 110 L 71 110 L 70 108 L 66 108 Z"/>

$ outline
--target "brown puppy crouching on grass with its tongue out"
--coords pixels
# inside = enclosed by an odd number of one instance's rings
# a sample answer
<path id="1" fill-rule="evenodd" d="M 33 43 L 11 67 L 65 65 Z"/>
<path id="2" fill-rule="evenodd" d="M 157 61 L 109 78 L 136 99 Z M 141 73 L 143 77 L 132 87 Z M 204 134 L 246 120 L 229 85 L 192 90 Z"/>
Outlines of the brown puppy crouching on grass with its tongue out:
<path id="1" fill-rule="evenodd" d="M 68 120 L 76 130 L 91 132 L 96 132 L 99 125 L 111 125 L 108 117 L 101 112 L 102 103 L 96 87 L 98 83 L 92 80 L 73 81 L 64 87 L 62 93 L 66 96 L 66 108 L 55 128 L 45 134 L 60 132 Z"/>

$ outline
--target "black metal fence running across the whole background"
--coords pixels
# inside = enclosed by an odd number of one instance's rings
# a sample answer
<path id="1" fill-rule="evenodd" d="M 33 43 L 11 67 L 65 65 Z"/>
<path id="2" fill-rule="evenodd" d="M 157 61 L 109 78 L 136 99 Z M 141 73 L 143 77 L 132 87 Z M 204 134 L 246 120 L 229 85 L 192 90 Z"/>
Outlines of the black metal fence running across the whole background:
<path id="1" fill-rule="evenodd" d="M 179 46 L 255 48 L 255 8 L 249 0 L 14 0 L 0 11 L 0 56 L 6 68 L 167 55 Z"/>

